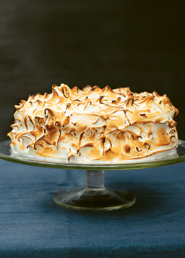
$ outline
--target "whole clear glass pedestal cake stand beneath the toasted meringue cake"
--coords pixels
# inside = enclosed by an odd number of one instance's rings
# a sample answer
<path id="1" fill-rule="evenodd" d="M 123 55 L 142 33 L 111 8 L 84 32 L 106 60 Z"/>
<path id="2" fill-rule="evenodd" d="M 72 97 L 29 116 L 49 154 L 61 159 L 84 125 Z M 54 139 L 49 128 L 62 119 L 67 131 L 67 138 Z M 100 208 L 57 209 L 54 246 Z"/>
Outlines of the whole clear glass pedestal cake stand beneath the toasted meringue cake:
<path id="1" fill-rule="evenodd" d="M 126 208 L 133 205 L 136 197 L 133 193 L 105 188 L 104 170 L 128 170 L 159 166 L 168 166 L 185 161 L 185 141 L 179 140 L 179 146 L 175 154 L 163 158 L 150 159 L 147 161 L 131 161 L 122 163 L 79 163 L 43 160 L 30 158 L 26 155 L 13 154 L 10 151 L 9 140 L 0 142 L 0 158 L 40 167 L 58 169 L 86 170 L 86 187 L 71 191 L 61 191 L 54 196 L 56 204 L 76 210 L 111 211 Z"/>

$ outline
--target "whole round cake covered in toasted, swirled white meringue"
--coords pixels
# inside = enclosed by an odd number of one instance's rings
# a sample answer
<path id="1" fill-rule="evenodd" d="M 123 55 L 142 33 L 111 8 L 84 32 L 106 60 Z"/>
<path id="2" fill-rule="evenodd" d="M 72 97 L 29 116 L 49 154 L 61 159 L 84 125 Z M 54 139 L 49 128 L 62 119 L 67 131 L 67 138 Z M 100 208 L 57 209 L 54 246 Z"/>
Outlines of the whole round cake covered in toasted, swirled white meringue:
<path id="1" fill-rule="evenodd" d="M 12 153 L 68 162 L 128 162 L 173 153 L 178 113 L 169 98 L 130 88 L 70 89 L 29 96 L 16 105 Z"/>

